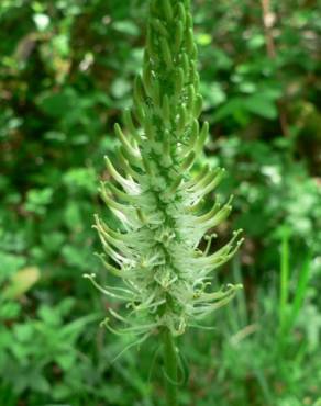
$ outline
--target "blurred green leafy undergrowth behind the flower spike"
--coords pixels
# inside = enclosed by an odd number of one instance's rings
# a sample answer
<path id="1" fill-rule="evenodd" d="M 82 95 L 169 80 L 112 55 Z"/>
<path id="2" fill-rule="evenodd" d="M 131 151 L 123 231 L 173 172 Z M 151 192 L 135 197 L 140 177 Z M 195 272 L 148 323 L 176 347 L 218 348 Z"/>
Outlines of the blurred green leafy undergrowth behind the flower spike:
<path id="1" fill-rule="evenodd" d="M 235 194 L 231 221 L 246 230 L 218 278 L 245 289 L 206 322 L 213 331 L 181 339 L 180 402 L 317 405 L 321 4 L 193 5 L 212 135 L 203 159 L 228 169 L 219 199 Z M 162 405 L 157 341 L 111 364 L 130 338 L 98 327 L 115 304 L 81 278 L 110 278 L 92 255 L 92 214 L 109 215 L 98 176 L 131 103 L 145 18 L 143 0 L 0 2 L 0 405 Z"/>

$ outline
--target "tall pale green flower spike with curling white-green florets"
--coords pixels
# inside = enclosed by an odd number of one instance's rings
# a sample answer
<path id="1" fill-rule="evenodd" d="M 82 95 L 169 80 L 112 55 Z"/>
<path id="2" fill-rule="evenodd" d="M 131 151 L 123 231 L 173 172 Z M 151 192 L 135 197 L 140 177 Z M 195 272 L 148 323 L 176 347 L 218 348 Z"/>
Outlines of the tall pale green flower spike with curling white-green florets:
<path id="1" fill-rule="evenodd" d="M 232 199 L 204 211 L 224 170 L 193 165 L 209 134 L 199 125 L 197 48 L 187 0 L 151 1 L 142 77 L 134 84 L 134 108 L 124 112 L 117 169 L 106 157 L 113 181 L 101 184 L 101 195 L 118 217 L 112 229 L 96 216 L 106 268 L 122 278 L 124 287 L 100 286 L 106 295 L 126 303 L 126 317 L 110 311 L 126 325 L 117 334 L 146 338 L 162 327 L 180 335 L 195 320 L 226 304 L 240 289 L 210 292 L 211 272 L 237 250 L 240 230 L 217 252 L 208 255 L 212 228 L 230 214 Z M 207 236 L 210 232 L 211 235 Z M 199 248 L 207 237 L 204 251 Z"/>

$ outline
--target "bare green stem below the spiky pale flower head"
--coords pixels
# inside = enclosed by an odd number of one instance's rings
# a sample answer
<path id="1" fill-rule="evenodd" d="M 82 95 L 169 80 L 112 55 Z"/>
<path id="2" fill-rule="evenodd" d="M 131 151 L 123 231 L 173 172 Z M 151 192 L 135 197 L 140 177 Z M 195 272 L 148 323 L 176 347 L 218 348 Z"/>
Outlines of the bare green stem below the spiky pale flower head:
<path id="1" fill-rule="evenodd" d="M 177 354 L 175 340 L 168 328 L 163 332 L 163 343 L 166 405 L 177 406 Z"/>

